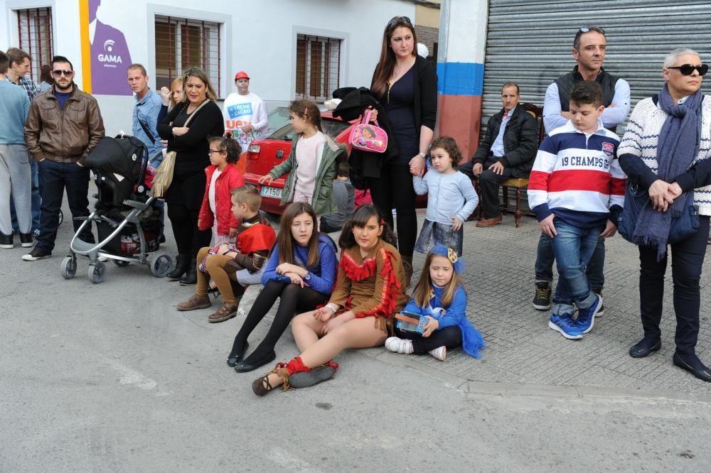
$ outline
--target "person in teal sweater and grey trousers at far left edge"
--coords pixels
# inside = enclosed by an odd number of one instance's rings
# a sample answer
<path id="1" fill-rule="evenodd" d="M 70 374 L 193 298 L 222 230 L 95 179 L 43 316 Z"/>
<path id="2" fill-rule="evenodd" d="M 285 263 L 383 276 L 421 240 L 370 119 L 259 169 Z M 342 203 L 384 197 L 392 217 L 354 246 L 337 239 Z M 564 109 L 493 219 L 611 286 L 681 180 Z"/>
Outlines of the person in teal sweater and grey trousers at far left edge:
<path id="1" fill-rule="evenodd" d="M 20 244 L 32 246 L 31 178 L 24 124 L 30 100 L 5 80 L 10 60 L 0 52 L 0 248 L 12 248 L 10 199 L 14 200 Z"/>

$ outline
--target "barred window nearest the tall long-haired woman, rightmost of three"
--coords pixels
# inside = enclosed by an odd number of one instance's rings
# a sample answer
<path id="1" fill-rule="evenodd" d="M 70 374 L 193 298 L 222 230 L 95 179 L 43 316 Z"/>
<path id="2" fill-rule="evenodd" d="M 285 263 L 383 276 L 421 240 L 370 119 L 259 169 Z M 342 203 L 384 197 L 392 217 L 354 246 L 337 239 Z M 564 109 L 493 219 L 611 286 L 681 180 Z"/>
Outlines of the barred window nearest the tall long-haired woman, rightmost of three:
<path id="1" fill-rule="evenodd" d="M 296 98 L 328 100 L 338 89 L 341 40 L 296 35 Z"/>

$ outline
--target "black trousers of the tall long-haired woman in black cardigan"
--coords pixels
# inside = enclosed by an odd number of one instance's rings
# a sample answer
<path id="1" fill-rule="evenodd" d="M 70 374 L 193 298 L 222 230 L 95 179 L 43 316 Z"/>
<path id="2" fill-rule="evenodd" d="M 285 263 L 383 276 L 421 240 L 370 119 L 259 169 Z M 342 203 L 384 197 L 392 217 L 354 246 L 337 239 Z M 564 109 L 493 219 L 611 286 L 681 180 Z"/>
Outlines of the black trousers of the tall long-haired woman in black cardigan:
<path id="1" fill-rule="evenodd" d="M 415 187 L 407 164 L 386 164 L 380 168 L 380 179 L 370 180 L 373 204 L 383 214 L 390 228 L 395 229 L 392 209 L 397 210 L 397 249 L 402 256 L 412 257 L 417 239 L 417 214 L 415 214 Z"/>

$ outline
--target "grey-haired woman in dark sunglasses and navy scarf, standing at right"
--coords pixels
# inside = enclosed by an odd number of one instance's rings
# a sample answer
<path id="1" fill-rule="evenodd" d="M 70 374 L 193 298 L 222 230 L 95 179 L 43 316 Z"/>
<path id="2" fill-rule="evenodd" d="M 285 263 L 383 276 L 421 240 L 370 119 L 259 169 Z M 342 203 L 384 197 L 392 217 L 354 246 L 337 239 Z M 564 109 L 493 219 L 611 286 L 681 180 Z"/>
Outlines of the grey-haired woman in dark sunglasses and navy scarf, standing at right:
<path id="1" fill-rule="evenodd" d="M 644 332 L 629 354 L 643 358 L 661 349 L 659 324 L 670 248 L 676 314 L 672 360 L 703 381 L 711 381 L 711 370 L 697 357 L 695 348 L 699 279 L 711 215 L 711 97 L 705 97 L 700 90 L 707 71 L 708 66 L 694 50 L 673 50 L 664 61 L 665 84 L 659 94 L 634 107 L 618 150 L 621 168 L 630 183 L 647 190 L 649 195 L 639 211 L 634 232 L 626 236 L 639 249 Z M 630 192 L 625 197 L 633 198 Z M 690 237 L 668 244 L 671 219 L 683 214 L 692 200 L 698 207 L 698 229 Z M 624 213 L 621 221 L 625 222 Z"/>

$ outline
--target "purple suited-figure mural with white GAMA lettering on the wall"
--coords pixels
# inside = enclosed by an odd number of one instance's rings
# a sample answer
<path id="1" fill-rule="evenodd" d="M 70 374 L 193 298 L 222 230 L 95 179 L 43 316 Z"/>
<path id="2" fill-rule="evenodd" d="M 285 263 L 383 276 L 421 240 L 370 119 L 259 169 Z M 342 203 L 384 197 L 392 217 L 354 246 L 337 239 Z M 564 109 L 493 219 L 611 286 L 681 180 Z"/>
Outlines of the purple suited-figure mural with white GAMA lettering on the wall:
<path id="1" fill-rule="evenodd" d="M 89 0 L 92 94 L 131 95 L 126 67 L 132 64 L 124 33 L 99 21 L 101 0 Z"/>

